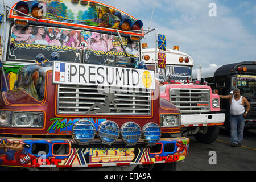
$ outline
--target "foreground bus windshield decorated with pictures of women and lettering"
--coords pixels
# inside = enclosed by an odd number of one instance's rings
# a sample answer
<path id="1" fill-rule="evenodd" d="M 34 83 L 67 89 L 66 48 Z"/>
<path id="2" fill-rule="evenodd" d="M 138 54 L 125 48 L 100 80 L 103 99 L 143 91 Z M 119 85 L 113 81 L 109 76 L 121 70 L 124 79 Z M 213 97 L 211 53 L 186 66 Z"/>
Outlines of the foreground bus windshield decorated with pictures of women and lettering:
<path id="1" fill-rule="evenodd" d="M 42 53 L 60 53 L 61 61 L 75 63 L 131 65 L 139 60 L 139 42 L 129 38 L 67 28 L 13 25 L 10 32 L 8 60 L 34 62 Z"/>

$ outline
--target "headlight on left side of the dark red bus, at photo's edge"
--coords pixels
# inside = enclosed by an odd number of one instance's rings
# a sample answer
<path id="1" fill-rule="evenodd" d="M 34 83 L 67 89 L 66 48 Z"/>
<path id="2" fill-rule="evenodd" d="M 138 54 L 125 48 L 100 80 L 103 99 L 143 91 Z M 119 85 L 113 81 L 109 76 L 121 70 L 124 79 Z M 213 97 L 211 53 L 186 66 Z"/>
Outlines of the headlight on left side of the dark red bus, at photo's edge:
<path id="1" fill-rule="evenodd" d="M 25 113 L 1 110 L 1 127 L 42 127 L 43 113 Z"/>

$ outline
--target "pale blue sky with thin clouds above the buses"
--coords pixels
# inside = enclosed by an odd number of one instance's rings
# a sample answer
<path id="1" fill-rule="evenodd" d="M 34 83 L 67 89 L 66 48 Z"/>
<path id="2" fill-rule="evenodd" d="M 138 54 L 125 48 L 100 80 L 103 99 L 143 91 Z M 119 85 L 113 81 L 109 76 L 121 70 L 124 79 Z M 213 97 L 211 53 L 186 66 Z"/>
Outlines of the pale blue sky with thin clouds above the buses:
<path id="1" fill-rule="evenodd" d="M 0 0 L 12 6 L 17 0 Z M 96 0 L 97 1 L 97 0 Z M 203 68 L 240 61 L 256 61 L 255 0 L 98 0 L 156 28 L 166 35 L 167 48 L 179 46 Z M 154 14 L 152 14 L 154 10 Z M 152 17 L 152 19 L 151 19 Z M 155 31 L 142 43 L 155 48 Z"/>

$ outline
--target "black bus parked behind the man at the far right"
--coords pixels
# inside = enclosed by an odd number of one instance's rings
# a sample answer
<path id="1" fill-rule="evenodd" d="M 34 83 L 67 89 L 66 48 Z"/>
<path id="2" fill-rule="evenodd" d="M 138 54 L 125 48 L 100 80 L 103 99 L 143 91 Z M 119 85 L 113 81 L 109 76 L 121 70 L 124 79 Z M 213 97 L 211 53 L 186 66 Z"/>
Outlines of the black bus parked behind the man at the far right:
<path id="1" fill-rule="evenodd" d="M 255 61 L 242 61 L 202 69 L 202 77 L 216 93 L 232 94 L 235 88 L 250 102 L 251 108 L 245 118 L 245 130 L 256 126 L 256 64 Z M 246 107 L 246 106 L 245 106 Z M 225 129 L 230 129 L 229 101 L 221 100 L 221 111 L 226 114 Z"/>

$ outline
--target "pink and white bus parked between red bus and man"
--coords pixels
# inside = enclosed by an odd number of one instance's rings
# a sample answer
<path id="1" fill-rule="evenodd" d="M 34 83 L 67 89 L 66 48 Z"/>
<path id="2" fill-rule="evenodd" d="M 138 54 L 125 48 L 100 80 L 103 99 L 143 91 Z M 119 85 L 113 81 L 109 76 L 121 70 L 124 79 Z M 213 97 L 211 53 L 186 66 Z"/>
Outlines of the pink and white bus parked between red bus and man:
<path id="1" fill-rule="evenodd" d="M 193 135 L 201 143 L 214 142 L 225 121 L 225 114 L 220 113 L 220 97 L 200 79 L 192 81 L 195 64 L 191 56 L 181 52 L 179 46 L 167 49 L 164 35 L 158 34 L 156 42 L 156 48 L 143 44 L 143 60 L 148 69 L 156 71 L 160 97 L 179 108 L 182 135 Z"/>

